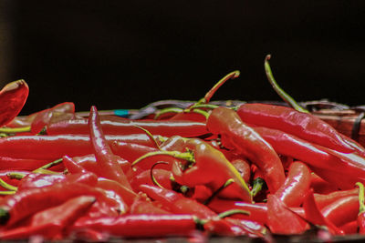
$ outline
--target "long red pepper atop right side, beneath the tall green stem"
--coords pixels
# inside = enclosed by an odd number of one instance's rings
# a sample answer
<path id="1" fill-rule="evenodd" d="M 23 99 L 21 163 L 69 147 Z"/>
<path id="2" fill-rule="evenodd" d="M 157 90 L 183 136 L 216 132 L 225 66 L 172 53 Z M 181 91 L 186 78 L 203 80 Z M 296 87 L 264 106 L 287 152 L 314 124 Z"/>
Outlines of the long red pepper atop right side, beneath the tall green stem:
<path id="1" fill-rule="evenodd" d="M 286 106 L 256 103 L 240 106 L 237 113 L 248 124 L 278 129 L 341 152 L 354 151 L 335 128 L 309 113 L 298 112 Z"/>

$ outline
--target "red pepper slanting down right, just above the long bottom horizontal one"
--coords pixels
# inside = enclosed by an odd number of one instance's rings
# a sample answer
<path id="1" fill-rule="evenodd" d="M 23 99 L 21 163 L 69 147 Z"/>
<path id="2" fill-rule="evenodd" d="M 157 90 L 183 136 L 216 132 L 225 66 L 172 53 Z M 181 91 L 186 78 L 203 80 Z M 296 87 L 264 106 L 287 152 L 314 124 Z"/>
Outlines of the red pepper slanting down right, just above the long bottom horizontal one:
<path id="1" fill-rule="evenodd" d="M 175 191 L 150 185 L 141 185 L 140 189 L 152 199 L 161 202 L 163 208 L 172 213 L 192 214 L 203 219 L 216 217 L 216 213 L 210 208 Z"/>

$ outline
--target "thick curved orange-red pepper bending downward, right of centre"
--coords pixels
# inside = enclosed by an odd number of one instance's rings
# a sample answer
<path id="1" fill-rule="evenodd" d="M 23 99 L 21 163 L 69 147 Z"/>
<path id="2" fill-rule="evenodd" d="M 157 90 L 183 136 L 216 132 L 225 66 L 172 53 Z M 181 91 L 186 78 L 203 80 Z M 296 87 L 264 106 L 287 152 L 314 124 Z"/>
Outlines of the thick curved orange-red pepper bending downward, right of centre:
<path id="1" fill-rule="evenodd" d="M 283 185 L 284 168 L 276 151 L 252 127 L 246 126 L 234 110 L 215 108 L 206 126 L 213 134 L 222 136 L 224 147 L 235 149 L 262 171 L 271 193 Z"/>

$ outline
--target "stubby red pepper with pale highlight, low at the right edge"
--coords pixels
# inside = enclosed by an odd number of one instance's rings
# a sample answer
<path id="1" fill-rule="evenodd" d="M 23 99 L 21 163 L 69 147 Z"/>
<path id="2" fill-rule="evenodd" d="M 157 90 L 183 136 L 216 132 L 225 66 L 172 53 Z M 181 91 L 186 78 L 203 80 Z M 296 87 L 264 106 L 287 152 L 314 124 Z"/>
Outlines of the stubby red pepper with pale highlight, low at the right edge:
<path id="1" fill-rule="evenodd" d="M 359 197 L 358 195 L 341 197 L 322 208 L 321 212 L 325 218 L 339 227 L 358 218 Z"/>

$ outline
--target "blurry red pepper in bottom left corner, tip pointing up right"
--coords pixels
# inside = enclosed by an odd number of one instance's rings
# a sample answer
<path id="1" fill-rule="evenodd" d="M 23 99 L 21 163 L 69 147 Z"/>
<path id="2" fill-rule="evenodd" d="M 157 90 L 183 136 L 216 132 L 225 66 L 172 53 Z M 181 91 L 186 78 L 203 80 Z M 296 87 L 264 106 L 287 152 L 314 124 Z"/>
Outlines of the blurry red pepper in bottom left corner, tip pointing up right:
<path id="1" fill-rule="evenodd" d="M 12 228 L 0 232 L 1 239 L 24 239 L 42 236 L 47 239 L 63 239 L 67 228 L 83 215 L 95 202 L 95 197 L 80 196 L 68 199 L 53 208 L 36 212 L 27 226 Z"/>

